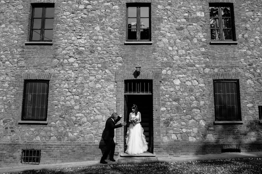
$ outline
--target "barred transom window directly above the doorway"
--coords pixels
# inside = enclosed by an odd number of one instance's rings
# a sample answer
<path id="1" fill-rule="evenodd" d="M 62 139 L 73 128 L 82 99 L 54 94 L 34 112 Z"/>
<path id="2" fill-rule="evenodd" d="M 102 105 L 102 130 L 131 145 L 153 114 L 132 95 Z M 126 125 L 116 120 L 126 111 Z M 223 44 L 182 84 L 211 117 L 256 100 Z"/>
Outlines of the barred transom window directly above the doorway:
<path id="1" fill-rule="evenodd" d="M 125 80 L 125 93 L 152 94 L 152 80 Z"/>

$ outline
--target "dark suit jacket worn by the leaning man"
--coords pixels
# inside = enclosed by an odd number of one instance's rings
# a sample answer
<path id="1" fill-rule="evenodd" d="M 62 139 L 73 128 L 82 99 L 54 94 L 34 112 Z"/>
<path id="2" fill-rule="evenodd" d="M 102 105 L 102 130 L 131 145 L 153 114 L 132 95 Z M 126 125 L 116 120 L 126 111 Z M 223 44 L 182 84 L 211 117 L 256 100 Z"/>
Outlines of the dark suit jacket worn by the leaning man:
<path id="1" fill-rule="evenodd" d="M 102 138 L 105 140 L 109 140 L 109 139 L 114 139 L 115 133 L 114 133 L 114 129 L 115 128 L 119 128 L 122 127 L 122 124 L 117 124 L 116 123 L 121 119 L 121 117 L 118 116 L 118 118 L 116 119 L 116 121 L 114 122 L 111 117 L 109 117 L 106 121 L 106 125 L 105 125 L 105 129 L 102 133 Z"/>

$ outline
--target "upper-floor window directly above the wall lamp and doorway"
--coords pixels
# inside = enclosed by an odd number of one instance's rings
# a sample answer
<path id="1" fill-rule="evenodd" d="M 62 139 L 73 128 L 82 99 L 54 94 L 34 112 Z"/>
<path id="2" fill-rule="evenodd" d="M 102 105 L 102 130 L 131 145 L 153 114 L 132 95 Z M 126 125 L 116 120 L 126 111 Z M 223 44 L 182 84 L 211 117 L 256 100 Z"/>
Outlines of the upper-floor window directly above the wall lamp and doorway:
<path id="1" fill-rule="evenodd" d="M 150 3 L 127 3 L 127 41 L 151 40 Z"/>

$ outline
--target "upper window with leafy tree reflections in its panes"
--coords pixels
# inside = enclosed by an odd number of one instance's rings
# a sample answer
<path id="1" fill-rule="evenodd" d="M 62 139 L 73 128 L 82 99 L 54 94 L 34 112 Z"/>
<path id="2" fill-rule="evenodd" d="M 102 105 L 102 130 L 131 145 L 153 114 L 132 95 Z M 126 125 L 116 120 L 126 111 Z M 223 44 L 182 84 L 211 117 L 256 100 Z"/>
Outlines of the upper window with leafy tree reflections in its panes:
<path id="1" fill-rule="evenodd" d="M 235 41 L 232 3 L 209 3 L 211 40 Z"/>

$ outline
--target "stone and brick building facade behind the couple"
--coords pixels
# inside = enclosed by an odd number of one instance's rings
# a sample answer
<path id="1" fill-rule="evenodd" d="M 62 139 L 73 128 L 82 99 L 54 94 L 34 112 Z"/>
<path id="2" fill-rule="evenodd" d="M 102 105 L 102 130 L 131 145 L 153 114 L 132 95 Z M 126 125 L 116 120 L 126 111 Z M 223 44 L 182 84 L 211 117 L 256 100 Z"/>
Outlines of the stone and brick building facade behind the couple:
<path id="1" fill-rule="evenodd" d="M 47 3 L 52 42 L 32 42 L 32 7 Z M 151 8 L 149 41 L 127 41 L 132 3 Z M 211 3 L 232 5 L 232 41 L 211 39 Z M 260 0 L 1 0 L 0 167 L 23 165 L 24 149 L 41 150 L 40 164 L 100 159 L 106 119 L 126 120 L 132 104 L 158 156 L 261 151 L 261 10 Z M 46 121 L 21 119 L 29 79 L 49 83 Z M 151 95 L 126 94 L 134 80 Z M 215 119 L 216 80 L 239 84 L 238 120 Z M 115 135 L 124 153 L 125 128 Z"/>

